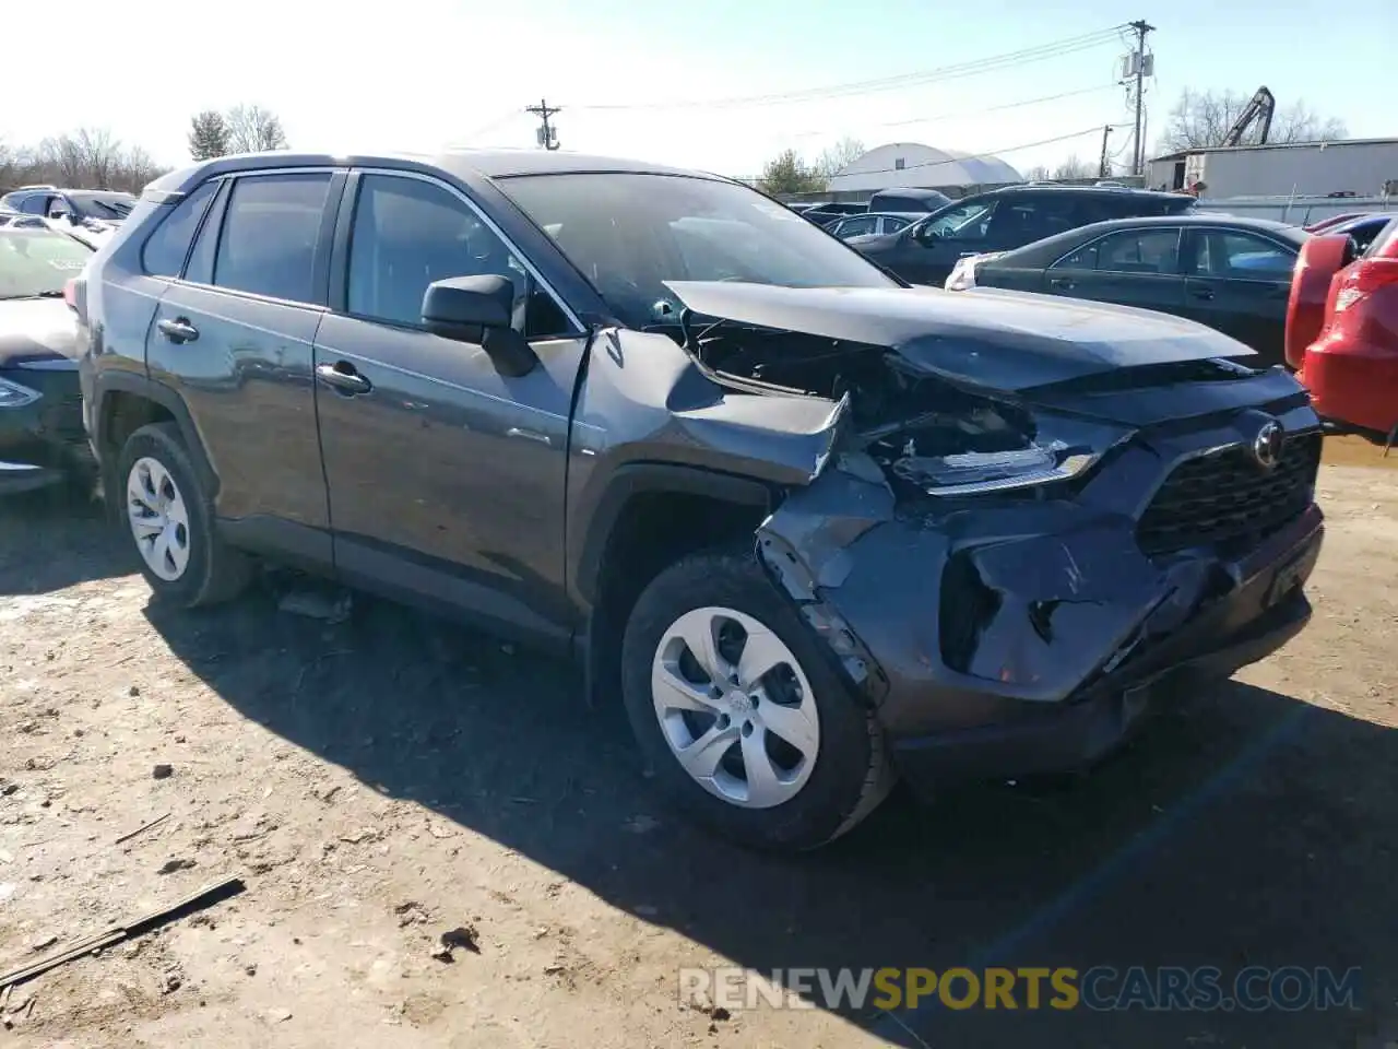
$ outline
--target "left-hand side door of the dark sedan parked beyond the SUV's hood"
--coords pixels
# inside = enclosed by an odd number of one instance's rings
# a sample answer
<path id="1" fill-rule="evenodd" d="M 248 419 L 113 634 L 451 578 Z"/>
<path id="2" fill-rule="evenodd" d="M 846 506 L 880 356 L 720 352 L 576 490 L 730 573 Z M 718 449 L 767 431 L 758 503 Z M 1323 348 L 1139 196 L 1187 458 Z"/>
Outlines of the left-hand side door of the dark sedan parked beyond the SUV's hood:
<path id="1" fill-rule="evenodd" d="M 1114 229 L 1054 262 L 1043 290 L 1183 316 L 1180 238 L 1177 225 Z"/>

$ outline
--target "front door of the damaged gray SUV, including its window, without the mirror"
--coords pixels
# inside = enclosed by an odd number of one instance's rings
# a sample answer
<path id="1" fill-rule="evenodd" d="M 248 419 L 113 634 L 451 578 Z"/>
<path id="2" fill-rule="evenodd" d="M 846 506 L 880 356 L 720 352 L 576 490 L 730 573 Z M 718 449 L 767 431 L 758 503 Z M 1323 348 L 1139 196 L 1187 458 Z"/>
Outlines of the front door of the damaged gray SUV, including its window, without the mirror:
<path id="1" fill-rule="evenodd" d="M 569 407 L 586 338 L 477 208 L 421 176 L 352 176 L 347 257 L 316 337 L 336 566 L 347 579 L 566 636 Z M 421 326 L 428 284 L 499 274 L 540 366 L 500 375 Z"/>

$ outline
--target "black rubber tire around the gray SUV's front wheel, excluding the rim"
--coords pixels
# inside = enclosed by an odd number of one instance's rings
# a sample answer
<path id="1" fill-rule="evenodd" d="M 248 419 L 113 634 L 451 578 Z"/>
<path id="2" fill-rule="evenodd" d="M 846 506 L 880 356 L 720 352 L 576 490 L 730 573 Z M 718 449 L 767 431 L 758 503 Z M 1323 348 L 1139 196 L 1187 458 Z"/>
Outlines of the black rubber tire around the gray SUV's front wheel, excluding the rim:
<path id="1" fill-rule="evenodd" d="M 788 801 L 745 808 L 695 782 L 656 718 L 650 673 L 670 627 L 693 608 L 719 606 L 770 628 L 791 650 L 814 691 L 821 738 L 809 779 Z M 654 780 L 695 822 L 748 848 L 819 848 L 872 813 L 893 785 L 884 734 L 872 712 L 844 684 L 833 657 L 749 551 L 703 551 L 663 571 L 642 592 L 622 639 L 622 697 Z"/>

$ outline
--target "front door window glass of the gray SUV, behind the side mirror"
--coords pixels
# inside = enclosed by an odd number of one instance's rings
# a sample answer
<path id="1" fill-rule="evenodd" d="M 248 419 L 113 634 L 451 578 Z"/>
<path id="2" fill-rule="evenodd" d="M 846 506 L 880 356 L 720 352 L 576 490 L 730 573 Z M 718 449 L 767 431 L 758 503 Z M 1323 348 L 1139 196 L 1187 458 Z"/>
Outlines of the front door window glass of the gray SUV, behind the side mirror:
<path id="1" fill-rule="evenodd" d="M 530 337 L 563 334 L 568 319 L 523 263 L 460 197 L 432 182 L 365 175 L 350 238 L 348 311 L 415 326 L 422 295 L 450 277 L 507 277 L 514 327 Z"/>

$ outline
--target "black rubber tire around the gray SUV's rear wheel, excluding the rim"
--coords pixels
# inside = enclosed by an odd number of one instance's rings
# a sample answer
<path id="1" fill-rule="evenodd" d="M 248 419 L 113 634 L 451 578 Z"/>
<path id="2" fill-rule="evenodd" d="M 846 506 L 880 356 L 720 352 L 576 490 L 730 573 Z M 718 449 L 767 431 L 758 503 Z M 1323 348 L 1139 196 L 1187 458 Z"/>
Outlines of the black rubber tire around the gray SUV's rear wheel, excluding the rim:
<path id="1" fill-rule="evenodd" d="M 185 572 L 173 580 L 161 579 L 137 550 L 145 582 L 150 583 L 155 597 L 183 608 L 232 600 L 247 587 L 252 579 L 252 562 L 246 554 L 224 543 L 214 530 L 212 502 L 199 483 L 199 474 L 180 439 L 179 427 L 173 422 L 152 422 L 126 439 L 116 477 L 116 492 L 123 505 L 119 513 L 120 527 L 131 536 L 124 509 L 126 484 L 131 467 L 145 457 L 155 459 L 169 473 L 189 516 L 189 562 Z M 136 547 L 134 536 L 131 545 Z"/>

